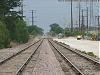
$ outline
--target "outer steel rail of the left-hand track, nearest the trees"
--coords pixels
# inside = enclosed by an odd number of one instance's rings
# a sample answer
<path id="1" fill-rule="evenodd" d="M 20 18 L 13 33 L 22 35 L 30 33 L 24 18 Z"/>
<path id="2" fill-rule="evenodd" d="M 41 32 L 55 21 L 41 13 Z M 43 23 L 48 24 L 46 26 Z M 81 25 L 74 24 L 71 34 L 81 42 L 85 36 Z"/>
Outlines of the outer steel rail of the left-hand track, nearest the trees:
<path id="1" fill-rule="evenodd" d="M 41 40 L 39 40 L 39 41 L 41 41 Z M 28 47 L 25 47 L 25 48 L 22 49 L 21 51 L 19 51 L 19 52 L 15 53 L 15 54 L 11 55 L 10 57 L 8 57 L 8 58 L 6 58 L 6 59 L 0 61 L 0 65 L 2 65 L 2 64 L 5 63 L 5 62 L 7 62 L 7 61 L 10 60 L 10 59 L 12 59 L 13 57 L 19 55 L 19 54 L 22 53 L 23 51 L 27 50 L 29 47 L 31 47 L 31 46 L 35 45 L 36 43 L 38 43 L 39 41 L 37 41 L 37 42 L 35 42 L 35 43 L 29 45 Z"/>

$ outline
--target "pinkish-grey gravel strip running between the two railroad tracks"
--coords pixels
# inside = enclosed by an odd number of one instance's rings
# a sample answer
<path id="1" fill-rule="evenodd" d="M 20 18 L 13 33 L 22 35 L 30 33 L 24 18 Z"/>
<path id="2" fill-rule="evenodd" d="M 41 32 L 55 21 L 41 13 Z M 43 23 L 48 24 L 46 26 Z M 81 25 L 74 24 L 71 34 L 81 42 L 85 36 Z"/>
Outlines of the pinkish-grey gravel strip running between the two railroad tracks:
<path id="1" fill-rule="evenodd" d="M 44 40 L 41 46 L 39 59 L 33 70 L 33 75 L 64 75 L 47 40 Z"/>

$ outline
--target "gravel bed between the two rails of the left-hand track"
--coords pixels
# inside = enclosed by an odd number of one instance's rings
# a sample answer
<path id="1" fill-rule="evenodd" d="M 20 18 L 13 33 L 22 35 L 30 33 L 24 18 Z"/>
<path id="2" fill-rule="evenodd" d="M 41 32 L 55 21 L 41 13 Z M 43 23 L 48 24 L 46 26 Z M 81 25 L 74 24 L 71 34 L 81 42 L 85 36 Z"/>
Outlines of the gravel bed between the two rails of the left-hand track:
<path id="1" fill-rule="evenodd" d="M 0 65 L 0 75 L 8 75 L 7 73 L 10 73 L 11 75 L 15 75 L 18 69 L 20 69 L 20 67 L 30 57 L 31 53 L 37 48 L 39 43 L 36 43 L 35 45 L 31 46 L 30 48 L 23 51 L 19 55 L 1 64 Z"/>

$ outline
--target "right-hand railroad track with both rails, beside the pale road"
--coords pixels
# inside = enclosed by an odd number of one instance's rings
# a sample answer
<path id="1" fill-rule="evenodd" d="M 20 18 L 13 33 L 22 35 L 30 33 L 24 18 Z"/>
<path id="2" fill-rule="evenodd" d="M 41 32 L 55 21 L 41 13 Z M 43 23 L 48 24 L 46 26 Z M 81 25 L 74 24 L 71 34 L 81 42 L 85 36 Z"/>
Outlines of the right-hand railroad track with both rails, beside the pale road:
<path id="1" fill-rule="evenodd" d="M 75 75 L 100 75 L 100 63 L 97 60 L 94 60 L 89 56 L 85 56 L 78 51 L 69 49 L 65 45 L 51 39 L 49 39 L 49 42 L 70 66 L 70 68 L 72 68 Z"/>

